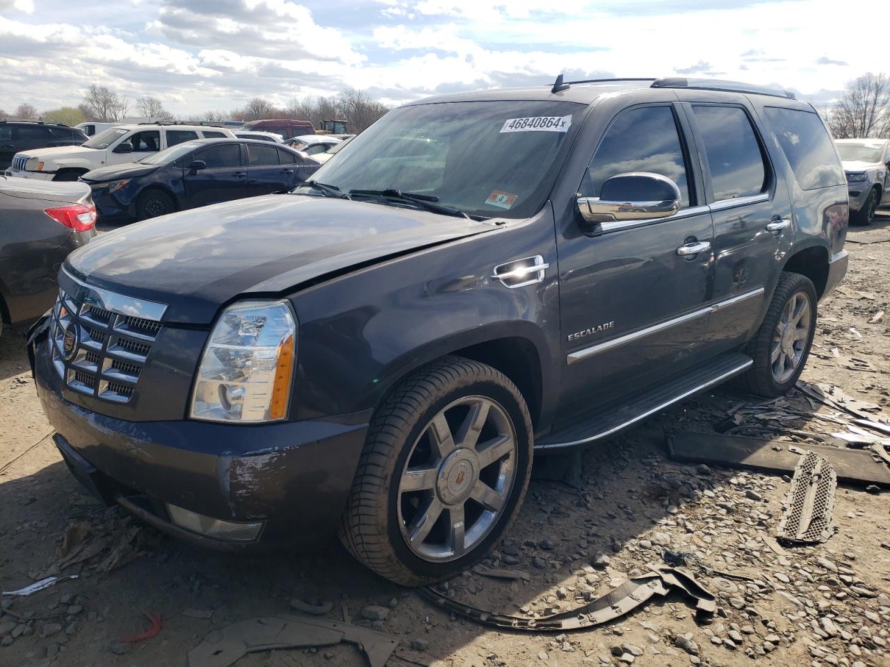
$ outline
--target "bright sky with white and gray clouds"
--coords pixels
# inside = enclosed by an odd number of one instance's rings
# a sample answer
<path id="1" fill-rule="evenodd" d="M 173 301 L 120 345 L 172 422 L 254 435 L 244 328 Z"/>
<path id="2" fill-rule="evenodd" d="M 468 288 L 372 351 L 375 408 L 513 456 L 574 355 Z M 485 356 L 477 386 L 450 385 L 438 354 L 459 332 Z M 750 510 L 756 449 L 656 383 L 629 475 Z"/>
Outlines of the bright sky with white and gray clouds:
<path id="1" fill-rule="evenodd" d="M 821 103 L 880 70 L 890 3 L 837 0 L 0 0 L 0 108 L 89 84 L 175 114 L 334 94 L 399 104 L 556 74 L 715 76 Z M 874 36 L 870 36 L 870 30 Z"/>

